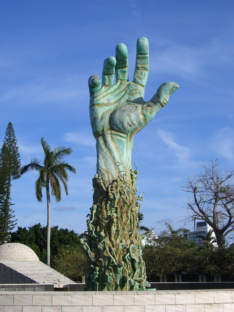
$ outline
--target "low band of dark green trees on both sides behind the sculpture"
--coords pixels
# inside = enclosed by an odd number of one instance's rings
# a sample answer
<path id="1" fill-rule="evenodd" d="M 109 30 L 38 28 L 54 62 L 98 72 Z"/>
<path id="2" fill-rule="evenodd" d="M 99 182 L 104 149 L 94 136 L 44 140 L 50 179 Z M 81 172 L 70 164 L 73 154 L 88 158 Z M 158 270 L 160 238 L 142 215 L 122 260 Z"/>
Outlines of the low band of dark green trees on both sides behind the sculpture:
<path id="1" fill-rule="evenodd" d="M 146 275 L 150 281 L 233 281 L 234 246 L 216 248 L 212 240 L 205 245 L 195 244 L 183 237 L 183 228 L 174 230 L 167 224 L 157 238 L 149 239 L 143 248 Z M 39 260 L 46 263 L 46 227 L 40 223 L 26 229 L 18 227 L 11 242 L 32 248 Z M 86 256 L 80 249 L 80 238 L 74 231 L 51 228 L 51 267 L 74 281 L 81 281 Z M 206 240 L 206 237 L 204 238 Z M 150 244 L 150 245 L 149 245 Z M 196 275 L 194 277 L 194 275 Z M 190 276 L 190 279 L 185 277 Z"/>

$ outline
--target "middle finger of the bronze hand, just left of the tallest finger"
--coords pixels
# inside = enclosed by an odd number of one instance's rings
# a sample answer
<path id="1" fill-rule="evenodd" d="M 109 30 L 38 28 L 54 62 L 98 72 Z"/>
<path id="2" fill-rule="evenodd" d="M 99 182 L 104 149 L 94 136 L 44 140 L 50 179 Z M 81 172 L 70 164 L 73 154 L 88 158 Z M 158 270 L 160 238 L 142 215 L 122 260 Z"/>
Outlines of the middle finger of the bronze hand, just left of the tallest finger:
<path id="1" fill-rule="evenodd" d="M 117 44 L 115 48 L 115 58 L 116 81 L 128 81 L 128 49 L 125 44 Z"/>

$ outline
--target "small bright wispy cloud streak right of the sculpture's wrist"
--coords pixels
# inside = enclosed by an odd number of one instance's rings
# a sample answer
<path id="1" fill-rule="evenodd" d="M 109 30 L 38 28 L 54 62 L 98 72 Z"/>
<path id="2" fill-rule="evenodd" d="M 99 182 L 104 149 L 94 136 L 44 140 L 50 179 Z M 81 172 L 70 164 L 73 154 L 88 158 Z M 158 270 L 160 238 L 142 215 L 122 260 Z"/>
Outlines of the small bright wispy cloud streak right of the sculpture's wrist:
<path id="1" fill-rule="evenodd" d="M 190 149 L 186 146 L 179 145 L 175 142 L 175 136 L 163 130 L 157 130 L 158 137 L 163 140 L 164 143 L 168 145 L 170 149 L 173 150 L 174 154 L 180 160 L 187 160 L 190 156 Z"/>

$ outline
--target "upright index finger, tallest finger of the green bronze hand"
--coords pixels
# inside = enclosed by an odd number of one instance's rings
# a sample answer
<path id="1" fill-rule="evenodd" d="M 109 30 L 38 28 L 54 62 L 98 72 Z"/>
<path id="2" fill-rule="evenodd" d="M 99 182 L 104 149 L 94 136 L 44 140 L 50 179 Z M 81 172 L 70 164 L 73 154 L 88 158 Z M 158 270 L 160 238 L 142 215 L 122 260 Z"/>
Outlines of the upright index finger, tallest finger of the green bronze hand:
<path id="1" fill-rule="evenodd" d="M 149 41 L 145 37 L 137 40 L 136 66 L 133 82 L 145 87 L 149 72 Z"/>

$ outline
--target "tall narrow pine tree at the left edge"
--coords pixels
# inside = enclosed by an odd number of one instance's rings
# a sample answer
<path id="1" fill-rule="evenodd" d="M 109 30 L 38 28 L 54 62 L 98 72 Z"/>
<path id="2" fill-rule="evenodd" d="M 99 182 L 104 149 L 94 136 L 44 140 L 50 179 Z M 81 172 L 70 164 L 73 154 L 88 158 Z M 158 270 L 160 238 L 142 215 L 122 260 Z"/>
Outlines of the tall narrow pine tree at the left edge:
<path id="1" fill-rule="evenodd" d="M 10 208 L 11 181 L 20 178 L 20 155 L 12 123 L 9 122 L 0 152 L 0 244 L 9 241 L 16 225 L 14 211 Z"/>

